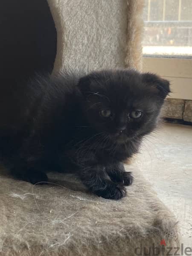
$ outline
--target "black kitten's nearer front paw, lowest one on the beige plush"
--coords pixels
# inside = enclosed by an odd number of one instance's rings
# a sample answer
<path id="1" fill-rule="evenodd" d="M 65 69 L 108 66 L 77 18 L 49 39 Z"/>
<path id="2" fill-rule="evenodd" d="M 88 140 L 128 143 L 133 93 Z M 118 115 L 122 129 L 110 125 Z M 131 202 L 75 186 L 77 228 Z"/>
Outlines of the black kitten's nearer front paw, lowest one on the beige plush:
<path id="1" fill-rule="evenodd" d="M 126 189 L 122 186 L 113 184 L 104 190 L 95 191 L 95 194 L 106 199 L 119 200 L 126 195 Z"/>

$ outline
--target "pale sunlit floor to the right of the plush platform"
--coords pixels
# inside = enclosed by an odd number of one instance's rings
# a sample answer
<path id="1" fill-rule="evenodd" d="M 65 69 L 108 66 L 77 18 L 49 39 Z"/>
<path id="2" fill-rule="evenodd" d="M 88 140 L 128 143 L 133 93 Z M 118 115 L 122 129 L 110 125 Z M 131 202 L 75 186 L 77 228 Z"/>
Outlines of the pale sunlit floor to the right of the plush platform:
<path id="1" fill-rule="evenodd" d="M 180 221 L 184 246 L 192 246 L 192 126 L 166 123 L 150 135 L 135 163 Z"/>

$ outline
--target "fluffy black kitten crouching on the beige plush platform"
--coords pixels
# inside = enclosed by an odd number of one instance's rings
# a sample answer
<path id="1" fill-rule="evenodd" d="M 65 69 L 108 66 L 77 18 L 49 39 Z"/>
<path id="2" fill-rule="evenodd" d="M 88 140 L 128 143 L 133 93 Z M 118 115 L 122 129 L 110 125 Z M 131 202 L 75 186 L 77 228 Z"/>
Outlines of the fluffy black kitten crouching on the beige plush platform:
<path id="1" fill-rule="evenodd" d="M 134 70 L 38 77 L 1 85 L 0 154 L 14 175 L 76 171 L 87 188 L 119 199 L 132 183 L 122 164 L 157 126 L 169 82 Z"/>

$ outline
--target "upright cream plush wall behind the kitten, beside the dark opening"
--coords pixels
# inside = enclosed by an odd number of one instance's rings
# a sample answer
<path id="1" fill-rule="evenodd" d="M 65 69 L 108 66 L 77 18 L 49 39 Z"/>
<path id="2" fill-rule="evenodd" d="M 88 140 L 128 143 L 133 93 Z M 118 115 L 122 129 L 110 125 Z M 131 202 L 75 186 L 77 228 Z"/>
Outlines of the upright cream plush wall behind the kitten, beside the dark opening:
<path id="1" fill-rule="evenodd" d="M 58 32 L 55 71 L 142 63 L 144 0 L 48 0 Z"/>

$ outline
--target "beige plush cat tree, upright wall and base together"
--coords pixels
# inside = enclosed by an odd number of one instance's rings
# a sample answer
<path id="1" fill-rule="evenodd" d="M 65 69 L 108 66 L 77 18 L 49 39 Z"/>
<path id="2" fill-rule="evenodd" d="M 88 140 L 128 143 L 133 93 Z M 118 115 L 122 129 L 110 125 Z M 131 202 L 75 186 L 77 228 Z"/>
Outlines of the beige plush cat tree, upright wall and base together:
<path id="1" fill-rule="evenodd" d="M 57 29 L 54 72 L 65 67 L 141 70 L 143 2 L 48 0 Z M 173 214 L 139 170 L 127 169 L 135 180 L 120 201 L 88 194 L 69 175 L 50 174 L 52 183 L 33 186 L 2 170 L 0 255 L 134 256 L 154 246 L 163 255 L 163 249 L 179 246 Z"/>

